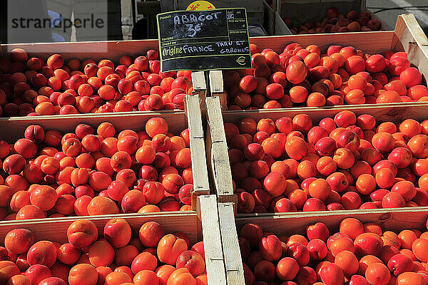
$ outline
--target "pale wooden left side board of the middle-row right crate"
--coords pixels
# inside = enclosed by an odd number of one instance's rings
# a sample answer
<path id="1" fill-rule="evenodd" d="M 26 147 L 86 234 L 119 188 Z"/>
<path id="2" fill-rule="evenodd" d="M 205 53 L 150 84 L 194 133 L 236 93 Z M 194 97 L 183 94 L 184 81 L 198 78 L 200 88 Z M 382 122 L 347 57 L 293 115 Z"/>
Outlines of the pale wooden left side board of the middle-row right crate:
<path id="1" fill-rule="evenodd" d="M 228 145 L 221 114 L 220 100 L 207 97 L 207 154 L 211 178 L 219 202 L 237 202 L 233 194 Z"/>

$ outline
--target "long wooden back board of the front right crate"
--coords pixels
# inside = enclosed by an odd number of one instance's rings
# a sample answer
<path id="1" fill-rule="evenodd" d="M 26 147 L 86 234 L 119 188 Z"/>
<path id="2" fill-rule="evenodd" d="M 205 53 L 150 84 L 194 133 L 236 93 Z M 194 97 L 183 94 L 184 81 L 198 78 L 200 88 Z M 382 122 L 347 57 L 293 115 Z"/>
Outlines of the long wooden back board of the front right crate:
<path id="1" fill-rule="evenodd" d="M 238 215 L 238 232 L 244 224 L 253 222 L 263 230 L 279 235 L 302 234 L 306 226 L 323 222 L 329 228 L 337 228 L 342 219 L 354 217 L 361 222 L 378 222 L 385 229 L 426 229 L 428 207 L 409 207 L 399 209 L 359 209 L 332 212 L 300 212 L 288 214 Z"/>

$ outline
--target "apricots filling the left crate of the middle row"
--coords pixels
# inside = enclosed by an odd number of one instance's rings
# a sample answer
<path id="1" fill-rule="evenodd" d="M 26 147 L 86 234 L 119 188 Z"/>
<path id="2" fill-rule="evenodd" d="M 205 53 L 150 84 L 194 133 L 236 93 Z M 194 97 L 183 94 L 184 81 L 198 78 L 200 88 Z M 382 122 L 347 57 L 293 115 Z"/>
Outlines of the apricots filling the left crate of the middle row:
<path id="1" fill-rule="evenodd" d="M 24 138 L 0 140 L 0 160 L 0 220 L 190 209 L 188 129 L 173 135 L 163 118 L 137 132 L 29 125 Z"/>

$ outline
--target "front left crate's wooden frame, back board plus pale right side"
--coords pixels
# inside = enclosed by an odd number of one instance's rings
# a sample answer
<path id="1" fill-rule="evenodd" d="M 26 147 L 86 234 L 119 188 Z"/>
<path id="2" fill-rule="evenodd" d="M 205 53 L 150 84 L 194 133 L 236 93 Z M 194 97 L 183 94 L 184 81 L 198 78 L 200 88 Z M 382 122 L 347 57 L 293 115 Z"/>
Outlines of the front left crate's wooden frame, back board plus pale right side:
<path id="1" fill-rule="evenodd" d="M 98 228 L 98 237 L 102 238 L 103 227 L 118 215 L 83 217 L 90 220 Z M 159 212 L 150 214 L 121 214 L 121 218 L 131 225 L 133 234 L 138 237 L 138 230 L 145 222 L 158 222 L 165 233 L 184 232 L 191 244 L 204 242 L 205 266 L 208 284 L 226 285 L 225 261 L 220 239 L 220 224 L 215 195 L 198 198 L 198 212 Z M 0 225 L 0 245 L 4 246 L 4 237 L 11 229 L 24 228 L 34 233 L 36 241 L 49 240 L 61 244 L 68 242 L 68 226 L 82 217 L 66 217 L 57 219 L 39 219 L 34 221 L 9 221 Z M 242 265 L 241 265 L 242 266 Z"/>

